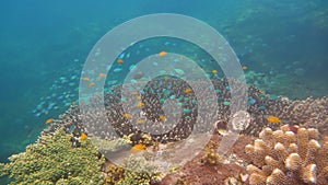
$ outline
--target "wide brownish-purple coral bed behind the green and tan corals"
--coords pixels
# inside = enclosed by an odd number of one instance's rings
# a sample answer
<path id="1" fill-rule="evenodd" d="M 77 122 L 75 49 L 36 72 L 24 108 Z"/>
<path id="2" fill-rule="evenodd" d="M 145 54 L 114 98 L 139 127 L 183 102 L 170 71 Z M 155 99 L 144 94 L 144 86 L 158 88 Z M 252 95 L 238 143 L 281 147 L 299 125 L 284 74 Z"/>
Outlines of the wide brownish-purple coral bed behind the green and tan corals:
<path id="1" fill-rule="evenodd" d="M 237 83 L 238 81 L 230 81 Z M 122 107 L 121 97 L 131 96 L 136 92 L 122 92 L 121 85 L 113 86 L 110 93 L 104 96 L 105 112 L 99 112 L 92 106 L 96 106 L 101 97 L 92 97 L 92 104 L 80 105 L 91 107 L 90 112 L 80 113 L 78 105 L 72 105 L 65 114 L 60 115 L 59 119 L 54 120 L 43 134 L 49 135 L 57 128 L 65 127 L 68 134 L 80 136 L 81 132 L 86 132 L 90 136 L 96 136 L 101 139 L 113 140 L 133 135 L 131 141 L 138 143 L 143 135 L 152 132 L 151 139 L 162 143 L 169 141 L 178 141 L 190 136 L 191 130 L 197 127 L 197 130 L 209 131 L 209 127 L 215 122 L 230 123 L 226 129 L 237 130 L 241 134 L 257 136 L 262 128 L 270 127 L 278 129 L 282 124 L 298 124 L 305 128 L 318 128 L 321 134 L 328 132 L 325 125 L 328 124 L 328 97 L 306 99 L 304 101 L 292 101 L 288 97 L 270 95 L 262 90 L 251 85 L 248 88 L 248 100 L 238 97 L 239 102 L 246 101 L 248 106 L 246 112 L 235 113 L 231 115 L 231 91 L 226 79 L 212 79 L 213 90 L 218 97 L 218 115 L 212 115 L 212 123 L 208 123 L 209 115 L 200 115 L 197 112 L 197 97 L 194 91 L 186 93 L 185 90 L 189 86 L 184 81 L 175 81 L 172 79 L 157 79 L 151 81 L 143 90 L 143 94 L 136 95 L 136 100 L 126 101 L 128 106 Z M 195 91 L 201 92 L 201 96 L 207 96 L 206 91 L 201 91 L 202 83 L 195 82 Z M 127 88 L 133 89 L 133 84 L 126 84 Z M 167 86 L 171 86 L 168 89 Z M 190 89 L 190 88 L 189 88 Z M 237 94 L 239 90 L 235 90 Z M 130 93 L 130 94 L 125 94 Z M 132 95 L 133 96 L 133 95 Z M 176 126 L 171 128 L 169 124 L 165 124 L 161 119 L 163 117 L 163 105 L 167 99 L 175 99 L 184 108 L 180 119 Z M 142 105 L 140 107 L 136 107 Z M 213 108 L 211 101 L 204 103 L 206 108 Z M 87 109 L 87 108 L 86 108 Z M 137 115 L 127 113 L 139 113 Z M 128 116 L 127 116 L 128 115 Z M 242 115 L 242 116 L 241 116 Z M 246 118 L 244 118 L 247 115 Z M 179 115 L 178 115 L 179 116 Z M 267 120 L 268 116 L 276 116 L 281 119 L 281 123 L 272 124 Z M 142 123 L 133 123 L 140 118 Z M 198 118 L 197 118 L 198 117 Z M 242 117 L 242 119 L 241 119 Z M 132 118 L 136 118 L 134 120 Z M 164 118 L 165 119 L 165 118 Z M 84 120 L 84 123 L 82 123 Z M 85 122 L 86 120 L 86 122 Z M 150 124 L 148 120 L 156 123 Z M 198 122 L 197 124 L 195 124 Z M 110 123 L 114 129 L 109 129 Z M 201 128 L 198 128 L 200 126 Z M 147 131 L 144 131 L 147 130 Z M 167 130 L 167 131 L 166 131 Z M 116 132 L 116 135 L 113 135 Z M 157 134 L 161 132 L 161 134 Z"/>

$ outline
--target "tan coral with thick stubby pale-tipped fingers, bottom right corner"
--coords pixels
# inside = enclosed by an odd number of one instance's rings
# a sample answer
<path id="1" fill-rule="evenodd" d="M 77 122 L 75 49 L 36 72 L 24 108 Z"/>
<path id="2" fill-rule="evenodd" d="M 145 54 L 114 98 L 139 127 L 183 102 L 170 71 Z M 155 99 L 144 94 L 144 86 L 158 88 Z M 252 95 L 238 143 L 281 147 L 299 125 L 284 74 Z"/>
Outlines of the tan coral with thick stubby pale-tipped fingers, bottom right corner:
<path id="1" fill-rule="evenodd" d="M 291 130 L 294 126 L 265 128 L 254 144 L 245 147 L 253 159 L 247 166 L 250 185 L 328 184 L 328 139 L 319 142 L 313 128 Z"/>

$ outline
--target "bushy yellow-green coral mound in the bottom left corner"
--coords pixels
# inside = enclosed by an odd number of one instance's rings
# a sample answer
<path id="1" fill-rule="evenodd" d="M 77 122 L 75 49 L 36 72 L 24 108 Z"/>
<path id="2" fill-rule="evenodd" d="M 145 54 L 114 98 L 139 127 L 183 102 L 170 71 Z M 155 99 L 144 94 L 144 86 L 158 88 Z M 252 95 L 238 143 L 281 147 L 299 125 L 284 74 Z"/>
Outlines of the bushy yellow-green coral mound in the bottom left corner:
<path id="1" fill-rule="evenodd" d="M 91 140 L 81 140 L 81 147 L 72 147 L 72 135 L 59 129 L 54 136 L 42 136 L 38 143 L 14 154 L 10 163 L 1 164 L 9 172 L 11 184 L 104 184 L 102 165 L 104 157 Z"/>

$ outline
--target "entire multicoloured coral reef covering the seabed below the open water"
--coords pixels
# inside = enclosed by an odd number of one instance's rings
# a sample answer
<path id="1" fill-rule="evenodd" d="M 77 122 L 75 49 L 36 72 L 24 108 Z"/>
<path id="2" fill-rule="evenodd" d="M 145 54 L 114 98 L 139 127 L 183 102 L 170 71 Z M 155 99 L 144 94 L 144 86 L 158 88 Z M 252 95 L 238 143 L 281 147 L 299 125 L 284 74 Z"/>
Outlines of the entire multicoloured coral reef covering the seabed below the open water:
<path id="1" fill-rule="evenodd" d="M 237 81 L 235 82 L 238 83 Z M 10 164 L 1 164 L 0 172 L 10 174 L 16 183 L 32 182 L 33 180 L 43 181 L 42 183 L 77 181 L 89 183 L 86 177 L 101 183 L 103 178 L 101 175 L 103 175 L 106 184 L 152 184 L 159 182 L 163 174 L 160 173 L 157 166 L 153 165 L 154 162 L 151 160 L 154 158 L 167 161 L 168 159 L 176 160 L 177 157 L 169 155 L 169 152 L 167 152 L 172 150 L 169 146 L 190 137 L 191 131 L 195 131 L 195 129 L 200 134 L 208 134 L 209 130 L 213 131 L 213 125 L 215 124 L 218 131 L 213 136 L 215 138 L 214 142 L 213 140 L 210 141 L 207 148 L 197 153 L 191 161 L 184 161 L 186 158 L 181 158 L 184 162 L 179 163 L 179 173 L 173 172 L 173 175 L 168 175 L 167 178 L 172 177 L 175 180 L 173 182 L 179 182 L 180 184 L 196 181 L 211 183 L 214 176 L 221 184 L 234 184 L 235 181 L 244 183 L 245 176 L 241 177 L 238 175 L 239 173 L 246 173 L 246 163 L 250 163 L 249 157 L 251 157 L 253 164 L 247 167 L 250 184 L 266 184 L 268 181 L 274 184 L 277 178 L 281 178 L 280 182 L 286 181 L 285 183 L 302 184 L 314 183 L 314 181 L 317 184 L 325 183 L 328 170 L 328 162 L 325 160 L 327 159 L 328 144 L 327 139 L 319 141 L 319 132 L 327 135 L 327 97 L 291 101 L 286 97 L 267 94 L 256 86 L 249 86 L 247 100 L 244 100 L 245 97 L 238 99 L 241 102 L 247 102 L 247 109 L 231 115 L 232 99 L 227 80 L 212 79 L 212 83 L 218 97 L 218 115 L 207 115 L 207 117 L 198 114 L 197 101 L 199 100 L 184 81 L 154 80 L 148 83 L 141 94 L 134 91 L 128 92 L 130 94 L 124 94 L 121 92 L 122 86 L 117 85 L 104 96 L 105 112 L 92 107 L 101 102 L 99 96 L 92 97 L 91 104 L 72 105 L 65 114 L 60 115 L 59 119 L 55 119 L 49 124 L 36 144 L 30 146 L 26 152 L 12 157 Z M 194 90 L 206 93 L 206 91 L 201 91 L 201 82 L 195 82 L 195 84 Z M 127 85 L 133 88 L 133 84 Z M 171 89 L 167 86 L 171 86 Z M 128 101 L 130 104 L 124 109 L 122 97 L 131 96 L 132 93 L 136 95 L 133 101 Z M 206 96 L 206 94 L 200 95 Z M 173 127 L 164 122 L 166 117 L 163 115 L 164 102 L 168 99 L 175 99 L 183 108 L 181 115 L 178 115 L 180 118 L 177 118 L 178 123 Z M 211 101 L 206 101 L 206 108 L 211 107 Z M 80 108 L 84 106 L 90 106 L 91 111 L 82 114 Z M 277 117 L 280 122 L 269 122 L 269 116 Z M 138 119 L 133 120 L 132 118 L 136 117 Z M 143 122 L 136 122 L 140 119 Z M 148 120 L 155 124 L 150 125 L 147 123 Z M 108 129 L 108 125 L 104 123 L 110 123 L 113 130 Z M 302 128 L 296 126 L 281 127 L 282 124 L 286 123 L 290 125 L 298 124 Z M 281 130 L 272 131 L 280 127 Z M 263 128 L 265 130 L 261 131 Z M 113 135 L 113 131 L 116 132 L 116 136 Z M 224 135 L 229 131 L 241 132 L 244 135 L 242 137 L 245 140 L 238 140 L 230 154 L 220 157 L 216 151 L 218 142 L 220 142 L 222 136 L 219 134 Z M 87 134 L 89 139 L 78 139 L 84 132 Z M 249 136 L 257 136 L 259 132 L 260 139 L 255 140 L 254 146 L 246 147 L 249 157 L 245 155 L 244 150 L 241 148 L 244 149 L 247 143 L 250 143 L 251 137 Z M 74 138 L 74 144 L 70 140 L 72 138 Z M 115 161 L 113 154 L 117 154 L 116 157 L 121 159 L 121 153 L 127 155 L 133 153 L 130 150 L 133 146 L 139 144 L 145 148 L 152 146 L 154 151 L 149 157 L 134 158 L 132 155 L 128 159 L 128 163 L 122 166 L 108 166 L 105 164 L 102 169 L 103 173 L 101 173 L 99 166 L 104 163 L 104 160 L 98 159 L 98 150 L 91 144 L 91 141 L 99 148 L 103 154 L 109 153 L 106 157 L 107 160 L 113 160 L 112 162 Z M 191 153 L 194 151 L 191 147 L 197 143 L 196 140 L 192 141 L 190 147 L 183 148 L 179 150 L 181 152 L 174 154 L 178 157 L 195 154 L 196 152 Z M 165 150 L 163 148 L 163 151 L 160 151 L 159 146 L 165 146 Z M 79 152 L 83 154 L 78 155 Z M 149 152 L 145 149 L 145 153 Z M 66 153 L 73 154 L 73 157 L 70 157 L 72 161 L 66 159 L 68 158 Z M 138 154 L 138 152 L 136 153 Z M 50 158 L 51 155 L 56 155 L 56 158 Z M 84 160 L 85 158 L 92 158 L 92 160 Z M 42 159 L 39 162 L 43 162 L 43 164 L 26 163 L 27 159 Z M 50 164 L 48 160 L 54 164 Z M 67 163 L 65 162 L 67 161 L 70 161 L 69 166 L 66 166 Z M 77 161 L 80 163 L 85 162 L 79 167 L 84 167 L 89 173 L 80 170 L 75 164 Z M 23 169 L 19 170 L 19 165 Z M 48 170 L 49 166 L 51 166 L 50 170 Z M 233 171 L 224 170 L 226 166 Z M 43 175 L 43 173 L 47 174 Z M 26 180 L 24 174 L 33 174 L 33 178 Z M 84 176 L 81 177 L 81 174 Z M 248 177 L 248 174 L 246 176 Z M 162 184 L 171 181 L 167 178 Z M 295 178 L 295 182 L 291 182 L 289 178 Z M 300 181 L 296 181 L 296 178 L 300 178 Z M 226 181 L 224 182 L 224 180 Z"/>

